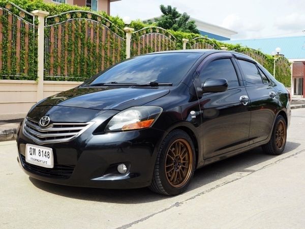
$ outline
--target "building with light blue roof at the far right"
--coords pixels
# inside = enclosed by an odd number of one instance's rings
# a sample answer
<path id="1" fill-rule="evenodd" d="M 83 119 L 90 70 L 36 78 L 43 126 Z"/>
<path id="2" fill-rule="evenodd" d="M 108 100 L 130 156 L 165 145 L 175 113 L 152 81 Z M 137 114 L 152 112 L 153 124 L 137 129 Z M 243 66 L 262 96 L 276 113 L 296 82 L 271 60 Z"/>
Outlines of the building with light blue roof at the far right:
<path id="1" fill-rule="evenodd" d="M 276 37 L 248 40 L 228 40 L 230 44 L 241 44 L 262 52 L 275 54 L 281 48 L 281 54 L 292 63 L 291 93 L 294 97 L 305 98 L 305 36 Z"/>

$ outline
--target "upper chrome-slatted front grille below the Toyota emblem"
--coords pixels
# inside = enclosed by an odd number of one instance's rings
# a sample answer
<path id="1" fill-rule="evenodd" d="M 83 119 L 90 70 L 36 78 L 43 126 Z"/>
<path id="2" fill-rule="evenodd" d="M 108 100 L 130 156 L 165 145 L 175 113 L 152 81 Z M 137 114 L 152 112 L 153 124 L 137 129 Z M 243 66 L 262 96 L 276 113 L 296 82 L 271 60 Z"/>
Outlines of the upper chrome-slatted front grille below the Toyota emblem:
<path id="1" fill-rule="evenodd" d="M 37 121 L 25 119 L 23 134 L 38 144 L 70 141 L 87 130 L 94 122 L 88 123 L 53 123 L 41 128 Z"/>

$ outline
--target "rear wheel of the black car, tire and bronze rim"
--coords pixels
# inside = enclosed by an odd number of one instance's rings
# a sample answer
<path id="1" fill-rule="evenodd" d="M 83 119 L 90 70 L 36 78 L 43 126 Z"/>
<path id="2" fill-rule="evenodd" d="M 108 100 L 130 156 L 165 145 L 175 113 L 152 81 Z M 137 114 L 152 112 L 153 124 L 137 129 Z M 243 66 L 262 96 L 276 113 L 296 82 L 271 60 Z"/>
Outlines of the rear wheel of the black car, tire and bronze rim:
<path id="1" fill-rule="evenodd" d="M 287 124 L 283 116 L 276 119 L 269 142 L 262 148 L 267 154 L 280 155 L 283 153 L 287 138 Z"/>

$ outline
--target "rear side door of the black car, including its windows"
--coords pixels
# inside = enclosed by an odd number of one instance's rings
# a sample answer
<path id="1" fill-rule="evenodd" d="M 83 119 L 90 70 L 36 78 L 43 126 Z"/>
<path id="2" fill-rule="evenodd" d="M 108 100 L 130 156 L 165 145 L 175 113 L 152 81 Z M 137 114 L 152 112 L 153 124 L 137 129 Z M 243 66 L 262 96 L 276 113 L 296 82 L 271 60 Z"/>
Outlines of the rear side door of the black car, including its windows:
<path id="1" fill-rule="evenodd" d="M 266 139 L 277 112 L 278 94 L 275 85 L 251 60 L 237 59 L 250 98 L 250 144 Z"/>

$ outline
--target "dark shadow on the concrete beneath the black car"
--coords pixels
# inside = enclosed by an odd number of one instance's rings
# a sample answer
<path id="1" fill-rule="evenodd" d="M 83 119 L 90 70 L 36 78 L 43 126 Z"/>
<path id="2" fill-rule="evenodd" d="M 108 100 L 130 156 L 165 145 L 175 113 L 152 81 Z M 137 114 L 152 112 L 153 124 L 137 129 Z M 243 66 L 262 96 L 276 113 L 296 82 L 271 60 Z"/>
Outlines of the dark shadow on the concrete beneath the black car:
<path id="1" fill-rule="evenodd" d="M 284 154 L 296 149 L 300 144 L 287 142 Z M 243 154 L 219 161 L 195 171 L 193 180 L 187 190 L 191 191 L 211 182 L 215 182 L 234 173 L 251 172 L 247 168 L 268 161 L 276 156 L 266 155 L 262 149 L 256 148 Z M 69 198 L 82 199 L 85 201 L 118 203 L 118 204 L 141 204 L 160 201 L 170 196 L 163 196 L 151 192 L 148 188 L 140 189 L 99 189 L 70 187 L 51 184 L 44 181 L 29 178 L 39 189 Z"/>

